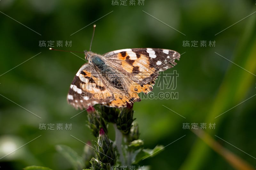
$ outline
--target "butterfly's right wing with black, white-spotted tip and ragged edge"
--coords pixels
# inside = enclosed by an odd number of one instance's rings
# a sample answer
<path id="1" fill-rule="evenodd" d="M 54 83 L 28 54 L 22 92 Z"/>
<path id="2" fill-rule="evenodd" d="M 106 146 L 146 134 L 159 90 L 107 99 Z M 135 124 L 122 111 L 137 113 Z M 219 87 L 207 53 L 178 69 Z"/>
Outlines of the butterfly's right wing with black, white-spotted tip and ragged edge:
<path id="1" fill-rule="evenodd" d="M 129 88 L 137 93 L 151 92 L 159 72 L 172 68 L 180 59 L 178 52 L 160 48 L 121 49 L 103 56 L 111 67 L 131 79 Z"/>

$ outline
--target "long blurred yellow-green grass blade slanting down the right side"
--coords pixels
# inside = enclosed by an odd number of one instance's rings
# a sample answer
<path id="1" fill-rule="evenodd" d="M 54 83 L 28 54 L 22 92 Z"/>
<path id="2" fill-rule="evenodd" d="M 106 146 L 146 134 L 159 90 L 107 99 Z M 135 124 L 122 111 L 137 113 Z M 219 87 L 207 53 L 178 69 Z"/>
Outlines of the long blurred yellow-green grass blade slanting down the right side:
<path id="1" fill-rule="evenodd" d="M 234 63 L 239 63 L 239 67 L 250 70 L 252 73 L 255 73 L 256 71 L 255 19 L 256 15 L 250 17 L 244 34 L 240 38 L 241 41 L 237 45 L 235 57 L 232 59 Z M 252 85 L 254 86 L 254 81 L 254 75 L 238 68 L 235 64 L 230 63 L 230 67 L 220 85 L 218 94 L 212 103 L 211 109 L 209 109 L 205 122 L 221 124 L 221 122 L 225 120 L 226 116 L 228 116 L 228 113 L 226 112 L 229 111 L 229 109 L 255 95 L 255 93 L 250 93 L 250 87 Z M 216 127 L 215 131 L 217 130 L 218 127 Z M 208 131 L 208 133 L 212 134 L 212 132 L 215 131 Z M 201 166 L 203 166 L 205 159 L 207 159 L 208 153 L 209 147 L 203 141 L 198 139 L 180 169 L 200 169 Z"/>

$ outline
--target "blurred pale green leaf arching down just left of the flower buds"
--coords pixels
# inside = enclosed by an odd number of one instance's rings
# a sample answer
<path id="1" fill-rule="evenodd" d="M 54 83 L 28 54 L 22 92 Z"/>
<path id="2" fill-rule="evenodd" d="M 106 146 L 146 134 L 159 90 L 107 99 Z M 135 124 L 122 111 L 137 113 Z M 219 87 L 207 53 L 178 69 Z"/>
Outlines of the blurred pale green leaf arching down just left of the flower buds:
<path id="1" fill-rule="evenodd" d="M 56 150 L 60 152 L 73 165 L 74 169 L 84 168 L 84 161 L 72 148 L 66 145 L 56 145 Z"/>

